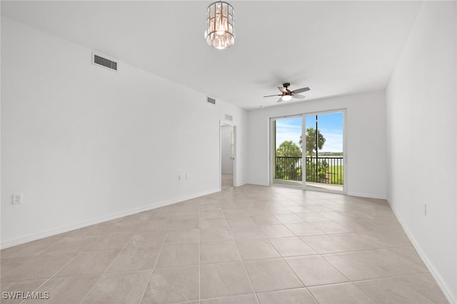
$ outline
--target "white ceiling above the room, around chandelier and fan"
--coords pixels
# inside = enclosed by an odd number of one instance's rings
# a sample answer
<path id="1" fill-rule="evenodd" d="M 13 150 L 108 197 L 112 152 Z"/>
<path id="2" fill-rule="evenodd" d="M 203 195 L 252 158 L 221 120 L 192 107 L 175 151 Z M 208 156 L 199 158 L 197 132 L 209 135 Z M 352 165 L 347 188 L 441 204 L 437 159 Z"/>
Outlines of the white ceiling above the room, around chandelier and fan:
<path id="1" fill-rule="evenodd" d="M 230 1 L 236 41 L 204 39 L 211 1 L 1 1 L 1 14 L 251 109 L 386 87 L 420 1 Z M 309 86 L 276 103 L 277 86 Z"/>

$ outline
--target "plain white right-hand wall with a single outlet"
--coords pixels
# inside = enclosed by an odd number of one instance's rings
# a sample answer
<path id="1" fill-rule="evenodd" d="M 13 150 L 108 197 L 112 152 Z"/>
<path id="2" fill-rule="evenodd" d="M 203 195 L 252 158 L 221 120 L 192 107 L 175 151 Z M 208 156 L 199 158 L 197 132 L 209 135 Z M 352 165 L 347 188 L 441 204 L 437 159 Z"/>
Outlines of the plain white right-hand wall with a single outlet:
<path id="1" fill-rule="evenodd" d="M 424 1 L 386 93 L 388 202 L 451 303 L 457 301 L 456 36 L 456 2 Z"/>

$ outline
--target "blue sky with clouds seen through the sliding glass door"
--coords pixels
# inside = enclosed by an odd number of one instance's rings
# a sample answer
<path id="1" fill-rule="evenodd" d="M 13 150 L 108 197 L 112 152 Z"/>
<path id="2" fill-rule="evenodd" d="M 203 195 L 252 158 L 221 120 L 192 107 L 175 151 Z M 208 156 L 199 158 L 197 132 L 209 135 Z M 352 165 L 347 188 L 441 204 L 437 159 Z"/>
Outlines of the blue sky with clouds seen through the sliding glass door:
<path id="1" fill-rule="evenodd" d="M 306 116 L 306 128 L 316 128 L 316 116 Z M 318 115 L 318 128 L 326 143 L 322 152 L 343 152 L 343 113 Z M 299 146 L 301 135 L 301 116 L 276 120 L 276 148 L 283 141 L 293 141 Z"/>

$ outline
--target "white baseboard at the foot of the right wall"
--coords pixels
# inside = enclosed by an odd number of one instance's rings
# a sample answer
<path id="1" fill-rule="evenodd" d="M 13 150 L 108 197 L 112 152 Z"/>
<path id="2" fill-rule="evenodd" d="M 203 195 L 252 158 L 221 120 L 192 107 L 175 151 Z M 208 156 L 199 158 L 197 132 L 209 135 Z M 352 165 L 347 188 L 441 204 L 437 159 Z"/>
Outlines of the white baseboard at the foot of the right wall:
<path id="1" fill-rule="evenodd" d="M 428 256 L 423 253 L 423 250 L 421 249 L 421 246 L 418 244 L 416 239 L 413 237 L 411 232 L 408 230 L 408 227 L 404 224 L 401 216 L 398 214 L 395 208 L 393 208 L 392 204 L 390 201 L 387 200 L 387 203 L 389 206 L 391 206 L 391 209 L 393 213 L 395 214 L 398 222 L 400 223 L 401 227 L 403 230 L 405 230 L 406 235 L 408 235 L 409 240 L 411 241 L 411 244 L 413 244 L 414 249 L 416 249 L 419 257 L 423 261 L 423 263 L 426 265 L 426 268 L 428 271 L 431 273 L 433 278 L 436 280 L 436 283 L 438 284 L 439 288 L 441 288 L 441 291 L 443 291 L 444 295 L 446 296 L 446 299 L 449 301 L 449 303 L 456 304 L 457 303 L 457 296 L 454 295 L 451 292 L 451 288 L 449 288 L 448 284 L 446 283 L 446 280 L 443 279 L 440 273 L 433 267 L 433 265 L 430 263 L 430 260 Z"/>

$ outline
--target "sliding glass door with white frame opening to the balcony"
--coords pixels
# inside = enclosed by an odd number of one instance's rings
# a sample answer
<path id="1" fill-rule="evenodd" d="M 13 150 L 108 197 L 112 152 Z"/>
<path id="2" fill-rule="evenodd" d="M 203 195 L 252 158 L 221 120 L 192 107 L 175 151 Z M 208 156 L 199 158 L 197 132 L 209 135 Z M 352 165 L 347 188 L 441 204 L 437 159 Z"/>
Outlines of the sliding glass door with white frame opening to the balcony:
<path id="1" fill-rule="evenodd" d="M 343 114 L 271 118 L 271 183 L 345 192 Z"/>

